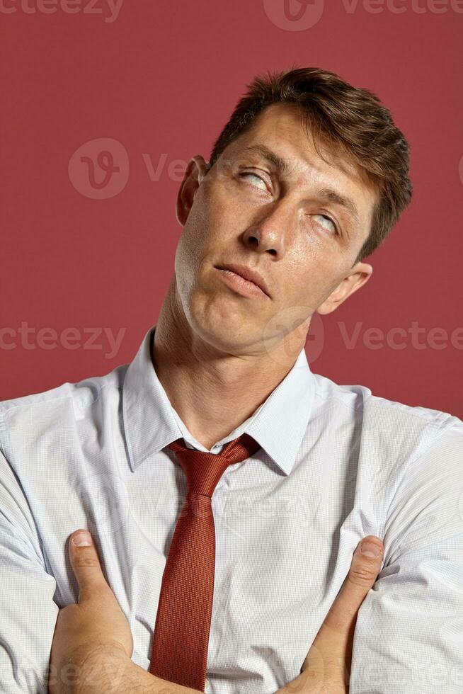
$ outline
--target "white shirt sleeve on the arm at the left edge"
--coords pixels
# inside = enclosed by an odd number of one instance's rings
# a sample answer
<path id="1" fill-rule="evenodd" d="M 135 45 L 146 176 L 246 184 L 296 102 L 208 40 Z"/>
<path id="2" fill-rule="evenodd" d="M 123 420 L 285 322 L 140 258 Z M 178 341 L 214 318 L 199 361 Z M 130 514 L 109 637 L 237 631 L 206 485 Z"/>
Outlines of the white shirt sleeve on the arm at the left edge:
<path id="1" fill-rule="evenodd" d="M 47 694 L 55 588 L 21 482 L 0 451 L 0 692 Z"/>

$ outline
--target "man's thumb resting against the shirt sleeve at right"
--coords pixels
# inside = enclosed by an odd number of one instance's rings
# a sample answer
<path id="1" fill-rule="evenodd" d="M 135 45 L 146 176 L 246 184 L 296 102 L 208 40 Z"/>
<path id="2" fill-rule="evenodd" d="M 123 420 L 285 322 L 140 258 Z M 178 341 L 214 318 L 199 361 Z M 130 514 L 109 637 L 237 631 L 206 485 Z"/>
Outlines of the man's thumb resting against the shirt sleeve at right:
<path id="1" fill-rule="evenodd" d="M 376 550 L 379 550 L 377 557 L 371 556 Z M 343 630 L 350 625 L 368 591 L 375 584 L 383 551 L 382 541 L 376 535 L 367 535 L 358 543 L 350 562 L 349 573 L 326 615 L 326 625 L 336 630 Z"/>

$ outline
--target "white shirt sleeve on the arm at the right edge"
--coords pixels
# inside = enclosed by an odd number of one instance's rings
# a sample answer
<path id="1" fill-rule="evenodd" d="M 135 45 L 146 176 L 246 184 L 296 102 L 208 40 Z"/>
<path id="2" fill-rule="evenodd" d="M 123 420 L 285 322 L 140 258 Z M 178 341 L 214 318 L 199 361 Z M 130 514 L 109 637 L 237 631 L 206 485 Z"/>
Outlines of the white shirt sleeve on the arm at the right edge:
<path id="1" fill-rule="evenodd" d="M 350 694 L 463 690 L 463 422 L 408 467 L 387 513 L 384 567 L 360 606 Z"/>

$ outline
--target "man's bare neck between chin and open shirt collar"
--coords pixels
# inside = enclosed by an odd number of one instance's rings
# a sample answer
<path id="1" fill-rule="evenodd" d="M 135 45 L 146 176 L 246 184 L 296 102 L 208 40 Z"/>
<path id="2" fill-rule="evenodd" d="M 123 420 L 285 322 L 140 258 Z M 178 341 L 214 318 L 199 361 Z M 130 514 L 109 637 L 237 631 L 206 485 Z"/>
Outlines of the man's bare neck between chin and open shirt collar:
<path id="1" fill-rule="evenodd" d="M 280 384 L 304 343 L 236 355 L 194 334 L 169 288 L 152 344 L 152 362 L 167 397 L 188 431 L 210 450 L 250 417 Z"/>

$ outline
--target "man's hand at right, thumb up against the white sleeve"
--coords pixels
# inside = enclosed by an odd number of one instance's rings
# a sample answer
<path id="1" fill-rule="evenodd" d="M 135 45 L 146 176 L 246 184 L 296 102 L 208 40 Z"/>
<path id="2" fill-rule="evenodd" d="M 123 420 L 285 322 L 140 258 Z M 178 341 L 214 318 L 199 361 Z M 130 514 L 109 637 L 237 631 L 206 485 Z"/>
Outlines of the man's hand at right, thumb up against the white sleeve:
<path id="1" fill-rule="evenodd" d="M 366 542 L 379 549 L 377 557 L 360 553 L 360 548 L 365 547 Z M 371 550 L 370 547 L 366 549 Z M 367 535 L 359 542 L 349 573 L 304 660 L 302 674 L 288 685 L 288 692 L 348 692 L 357 613 L 368 591 L 375 584 L 383 550 L 382 541 L 375 535 Z"/>

